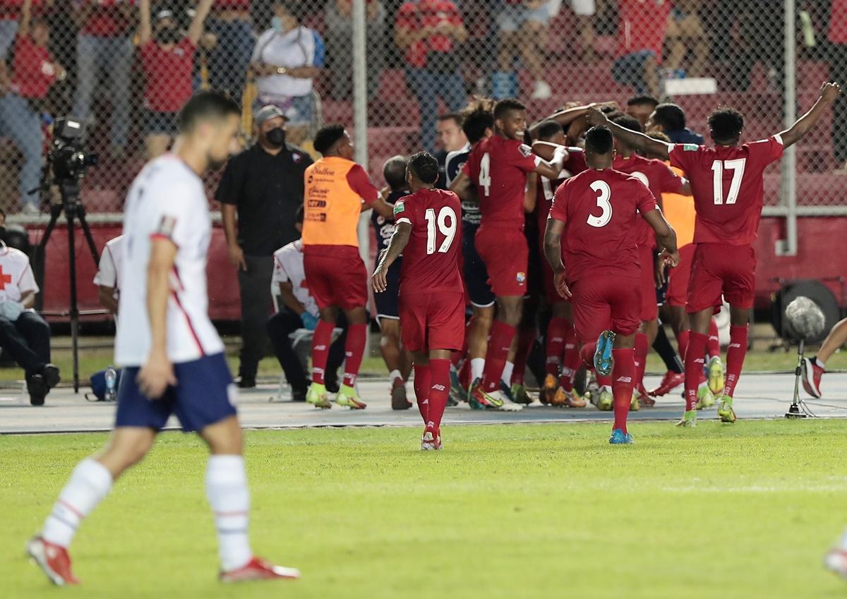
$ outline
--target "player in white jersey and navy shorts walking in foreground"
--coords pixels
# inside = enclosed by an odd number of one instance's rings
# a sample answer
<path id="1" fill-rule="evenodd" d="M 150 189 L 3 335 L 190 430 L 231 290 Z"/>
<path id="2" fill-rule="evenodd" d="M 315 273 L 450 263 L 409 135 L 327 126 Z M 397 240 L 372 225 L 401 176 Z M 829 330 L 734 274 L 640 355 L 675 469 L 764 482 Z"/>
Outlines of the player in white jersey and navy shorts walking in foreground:
<path id="1" fill-rule="evenodd" d="M 102 452 L 76 467 L 27 552 L 56 585 L 78 584 L 67 547 L 113 481 L 140 461 L 171 414 L 197 431 L 212 455 L 206 493 L 218 531 L 220 578 L 296 578 L 253 556 L 242 435 L 224 344 L 207 314 L 206 261 L 212 223 L 201 175 L 235 149 L 241 109 L 213 91 L 180 111 L 173 155 L 148 163 L 133 182 L 124 218 L 125 256 L 115 357 L 125 367 L 115 427 Z"/>

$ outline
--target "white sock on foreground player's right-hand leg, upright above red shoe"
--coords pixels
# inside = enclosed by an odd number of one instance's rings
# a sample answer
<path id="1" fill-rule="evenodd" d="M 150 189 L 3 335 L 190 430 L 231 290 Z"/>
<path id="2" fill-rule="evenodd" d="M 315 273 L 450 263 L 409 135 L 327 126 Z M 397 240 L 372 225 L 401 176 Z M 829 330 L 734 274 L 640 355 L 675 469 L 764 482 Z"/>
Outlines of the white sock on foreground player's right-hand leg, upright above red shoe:
<path id="1" fill-rule="evenodd" d="M 206 467 L 206 497 L 214 513 L 221 567 L 241 568 L 252 558 L 247 525 L 250 521 L 250 491 L 244 458 L 240 455 L 209 456 Z"/>

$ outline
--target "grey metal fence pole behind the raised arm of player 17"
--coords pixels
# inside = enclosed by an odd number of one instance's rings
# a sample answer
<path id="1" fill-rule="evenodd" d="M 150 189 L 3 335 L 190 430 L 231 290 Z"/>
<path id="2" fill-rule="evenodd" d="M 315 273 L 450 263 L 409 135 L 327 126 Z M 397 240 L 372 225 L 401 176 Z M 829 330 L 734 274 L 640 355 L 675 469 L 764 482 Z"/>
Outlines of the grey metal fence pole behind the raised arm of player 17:
<path id="1" fill-rule="evenodd" d="M 785 4 L 785 90 L 783 97 L 785 111 L 785 129 L 789 129 L 797 118 L 797 38 L 794 14 L 794 0 L 784 0 Z M 785 151 L 780 177 L 780 200 L 786 208 L 785 240 L 778 248 L 778 256 L 797 255 L 797 149 L 789 147 Z"/>

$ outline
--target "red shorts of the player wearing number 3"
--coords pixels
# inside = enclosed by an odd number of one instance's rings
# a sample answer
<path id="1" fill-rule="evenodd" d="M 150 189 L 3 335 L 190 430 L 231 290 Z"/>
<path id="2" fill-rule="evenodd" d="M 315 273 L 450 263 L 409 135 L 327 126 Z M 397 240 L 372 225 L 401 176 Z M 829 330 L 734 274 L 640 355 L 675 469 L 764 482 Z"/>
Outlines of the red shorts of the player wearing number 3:
<path id="1" fill-rule="evenodd" d="M 638 278 L 600 274 L 571 285 L 573 327 L 579 343 L 596 341 L 603 331 L 632 335 L 641 324 Z M 656 297 L 654 292 L 653 297 Z"/>

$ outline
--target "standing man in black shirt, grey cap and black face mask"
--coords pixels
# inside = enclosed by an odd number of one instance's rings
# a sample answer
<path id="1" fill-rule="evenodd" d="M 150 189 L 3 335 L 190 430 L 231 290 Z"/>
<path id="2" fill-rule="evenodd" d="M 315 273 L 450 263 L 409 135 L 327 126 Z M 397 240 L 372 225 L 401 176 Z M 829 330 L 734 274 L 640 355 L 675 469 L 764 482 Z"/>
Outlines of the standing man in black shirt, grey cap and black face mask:
<path id="1" fill-rule="evenodd" d="M 274 251 L 300 238 L 295 212 L 303 203 L 303 173 L 312 164 L 305 151 L 285 143 L 285 116 L 278 107 L 263 107 L 254 120 L 257 142 L 230 158 L 215 193 L 241 289 L 242 388 L 256 386 L 268 344 Z"/>

